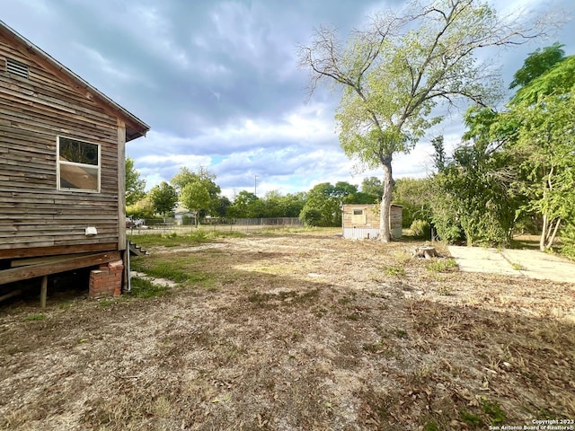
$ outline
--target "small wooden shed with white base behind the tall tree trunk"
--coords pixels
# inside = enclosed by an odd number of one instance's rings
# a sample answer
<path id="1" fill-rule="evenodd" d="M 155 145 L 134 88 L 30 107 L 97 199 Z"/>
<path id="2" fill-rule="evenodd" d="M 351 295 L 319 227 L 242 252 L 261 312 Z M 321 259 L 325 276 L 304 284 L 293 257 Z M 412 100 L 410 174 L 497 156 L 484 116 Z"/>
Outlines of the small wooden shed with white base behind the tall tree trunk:
<path id="1" fill-rule="evenodd" d="M 341 227 L 344 238 L 369 239 L 379 235 L 379 205 L 343 205 L 341 211 Z M 392 237 L 401 238 L 403 207 L 392 204 L 390 212 Z"/>

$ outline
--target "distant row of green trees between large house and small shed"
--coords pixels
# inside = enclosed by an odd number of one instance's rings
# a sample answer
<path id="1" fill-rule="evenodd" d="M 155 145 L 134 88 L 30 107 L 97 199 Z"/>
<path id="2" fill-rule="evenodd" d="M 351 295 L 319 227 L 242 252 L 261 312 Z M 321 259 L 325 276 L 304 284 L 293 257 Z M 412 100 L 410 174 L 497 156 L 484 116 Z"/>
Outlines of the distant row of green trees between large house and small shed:
<path id="1" fill-rule="evenodd" d="M 197 223 L 208 217 L 227 222 L 235 218 L 299 217 L 313 226 L 341 226 L 342 204 L 375 204 L 383 194 L 380 180 L 363 181 L 361 189 L 347 181 L 335 185 L 323 182 L 307 192 L 288 193 L 270 190 L 262 197 L 241 190 L 232 200 L 221 195 L 216 175 L 205 168 L 191 171 L 182 167 L 172 180 L 162 181 L 148 192 L 134 160 L 126 160 L 126 214 L 135 218 L 173 216 L 177 205 L 191 213 Z"/>

